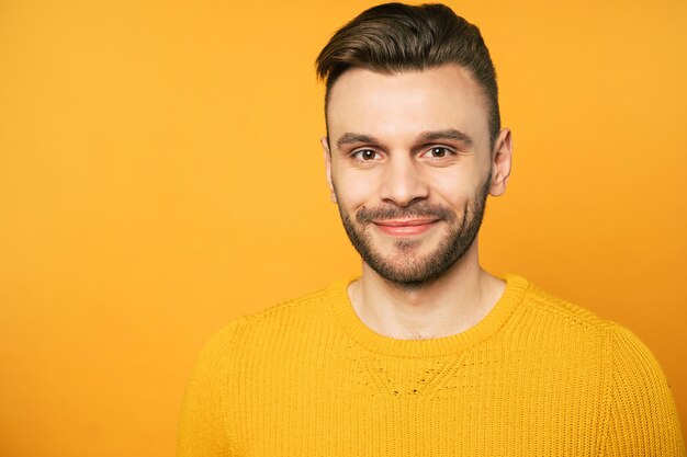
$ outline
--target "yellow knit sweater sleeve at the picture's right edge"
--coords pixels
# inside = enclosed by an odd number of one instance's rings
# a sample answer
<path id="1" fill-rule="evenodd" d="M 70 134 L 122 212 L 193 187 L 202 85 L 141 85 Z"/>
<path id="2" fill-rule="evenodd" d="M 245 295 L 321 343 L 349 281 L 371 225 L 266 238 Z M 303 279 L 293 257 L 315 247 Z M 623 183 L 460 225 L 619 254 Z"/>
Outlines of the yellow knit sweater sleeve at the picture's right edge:
<path id="1" fill-rule="evenodd" d="M 602 456 L 685 457 L 671 388 L 649 349 L 629 330 L 609 329 L 610 409 Z"/>

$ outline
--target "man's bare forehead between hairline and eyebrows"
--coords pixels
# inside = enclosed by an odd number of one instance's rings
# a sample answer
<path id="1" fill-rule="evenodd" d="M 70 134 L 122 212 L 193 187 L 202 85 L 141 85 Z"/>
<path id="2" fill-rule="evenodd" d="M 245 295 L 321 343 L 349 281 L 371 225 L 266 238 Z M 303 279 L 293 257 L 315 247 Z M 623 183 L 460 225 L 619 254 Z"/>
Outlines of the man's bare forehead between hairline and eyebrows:
<path id="1" fill-rule="evenodd" d="M 327 123 L 334 141 L 351 132 L 402 140 L 453 128 L 488 142 L 486 99 L 458 65 L 391 75 L 348 70 L 329 92 Z"/>

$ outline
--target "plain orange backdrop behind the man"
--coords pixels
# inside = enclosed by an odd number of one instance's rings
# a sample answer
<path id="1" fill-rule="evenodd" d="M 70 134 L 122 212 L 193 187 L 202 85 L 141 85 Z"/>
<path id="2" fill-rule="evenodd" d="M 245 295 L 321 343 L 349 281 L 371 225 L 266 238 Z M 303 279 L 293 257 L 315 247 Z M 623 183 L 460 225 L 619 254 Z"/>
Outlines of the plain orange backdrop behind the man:
<path id="1" fill-rule="evenodd" d="M 172 455 L 213 332 L 359 271 L 313 60 L 371 4 L 0 3 L 0 455 Z M 687 3 L 449 4 L 516 145 L 484 265 L 632 329 L 686 424 Z"/>

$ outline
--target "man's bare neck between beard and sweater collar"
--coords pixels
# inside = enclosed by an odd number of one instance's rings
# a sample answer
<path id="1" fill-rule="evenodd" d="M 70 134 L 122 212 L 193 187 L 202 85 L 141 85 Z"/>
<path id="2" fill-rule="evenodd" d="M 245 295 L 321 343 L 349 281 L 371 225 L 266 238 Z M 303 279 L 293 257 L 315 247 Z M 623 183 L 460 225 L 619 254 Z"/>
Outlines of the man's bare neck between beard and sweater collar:
<path id="1" fill-rule="evenodd" d="M 440 278 L 407 289 L 363 263 L 349 286 L 356 313 L 376 333 L 401 340 L 433 339 L 463 332 L 480 322 L 505 289 L 480 266 L 477 243 Z"/>

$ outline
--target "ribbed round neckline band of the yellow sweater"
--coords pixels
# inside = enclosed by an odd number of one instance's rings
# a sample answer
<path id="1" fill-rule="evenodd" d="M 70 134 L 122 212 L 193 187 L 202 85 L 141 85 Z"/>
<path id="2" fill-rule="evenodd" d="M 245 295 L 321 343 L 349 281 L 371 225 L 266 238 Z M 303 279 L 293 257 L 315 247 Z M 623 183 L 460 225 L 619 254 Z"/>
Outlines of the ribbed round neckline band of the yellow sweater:
<path id="1" fill-rule="evenodd" d="M 515 308 L 522 301 L 528 288 L 527 279 L 507 274 L 506 289 L 488 315 L 464 332 L 430 340 L 398 340 L 384 336 L 365 325 L 348 297 L 348 285 L 356 277 L 337 281 L 327 288 L 327 297 L 344 331 L 365 349 L 398 357 L 438 357 L 463 351 L 496 333 L 506 323 Z"/>

